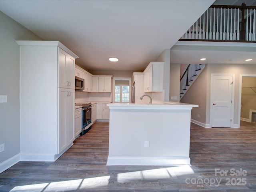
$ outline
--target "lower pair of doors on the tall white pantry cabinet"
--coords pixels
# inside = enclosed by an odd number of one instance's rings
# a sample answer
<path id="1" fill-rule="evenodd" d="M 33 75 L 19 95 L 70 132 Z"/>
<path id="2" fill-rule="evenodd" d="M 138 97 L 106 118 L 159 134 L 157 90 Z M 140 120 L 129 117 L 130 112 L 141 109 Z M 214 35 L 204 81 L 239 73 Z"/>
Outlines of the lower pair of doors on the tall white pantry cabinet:
<path id="1" fill-rule="evenodd" d="M 59 88 L 58 153 L 74 141 L 75 90 Z"/>

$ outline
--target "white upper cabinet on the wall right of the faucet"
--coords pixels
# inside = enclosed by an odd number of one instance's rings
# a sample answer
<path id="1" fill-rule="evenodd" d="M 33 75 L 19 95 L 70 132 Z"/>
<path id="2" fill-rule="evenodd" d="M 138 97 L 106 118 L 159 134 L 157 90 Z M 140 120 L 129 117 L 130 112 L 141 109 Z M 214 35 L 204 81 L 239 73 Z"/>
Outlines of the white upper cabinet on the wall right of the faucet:
<path id="1" fill-rule="evenodd" d="M 144 92 L 162 92 L 164 85 L 164 62 L 150 62 L 144 70 Z"/>

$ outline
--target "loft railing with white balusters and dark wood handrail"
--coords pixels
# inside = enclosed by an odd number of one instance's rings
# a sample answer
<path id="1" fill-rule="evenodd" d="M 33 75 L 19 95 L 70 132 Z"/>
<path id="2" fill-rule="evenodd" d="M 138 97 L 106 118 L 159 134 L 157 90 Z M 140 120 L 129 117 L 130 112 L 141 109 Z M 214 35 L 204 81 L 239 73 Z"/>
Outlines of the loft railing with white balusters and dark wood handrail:
<path id="1" fill-rule="evenodd" d="M 212 5 L 181 40 L 256 41 L 256 6 Z"/>

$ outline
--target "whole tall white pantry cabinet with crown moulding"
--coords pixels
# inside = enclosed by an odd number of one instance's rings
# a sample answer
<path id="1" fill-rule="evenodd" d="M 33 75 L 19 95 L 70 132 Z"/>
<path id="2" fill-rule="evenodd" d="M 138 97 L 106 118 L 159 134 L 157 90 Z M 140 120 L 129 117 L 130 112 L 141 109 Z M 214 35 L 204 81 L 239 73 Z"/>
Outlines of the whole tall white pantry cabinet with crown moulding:
<path id="1" fill-rule="evenodd" d="M 20 160 L 55 161 L 74 141 L 75 59 L 58 41 L 20 46 Z"/>

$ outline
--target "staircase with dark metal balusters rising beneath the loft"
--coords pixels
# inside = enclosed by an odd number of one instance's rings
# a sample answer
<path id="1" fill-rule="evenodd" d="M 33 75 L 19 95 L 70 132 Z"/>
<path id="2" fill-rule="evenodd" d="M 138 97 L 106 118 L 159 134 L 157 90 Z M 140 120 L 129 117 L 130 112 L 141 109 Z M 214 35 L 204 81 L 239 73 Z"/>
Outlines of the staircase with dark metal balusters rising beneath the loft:
<path id="1" fill-rule="evenodd" d="M 186 94 L 190 86 L 198 78 L 199 74 L 204 69 L 205 64 L 189 64 L 184 74 L 180 78 L 180 100 Z"/>

